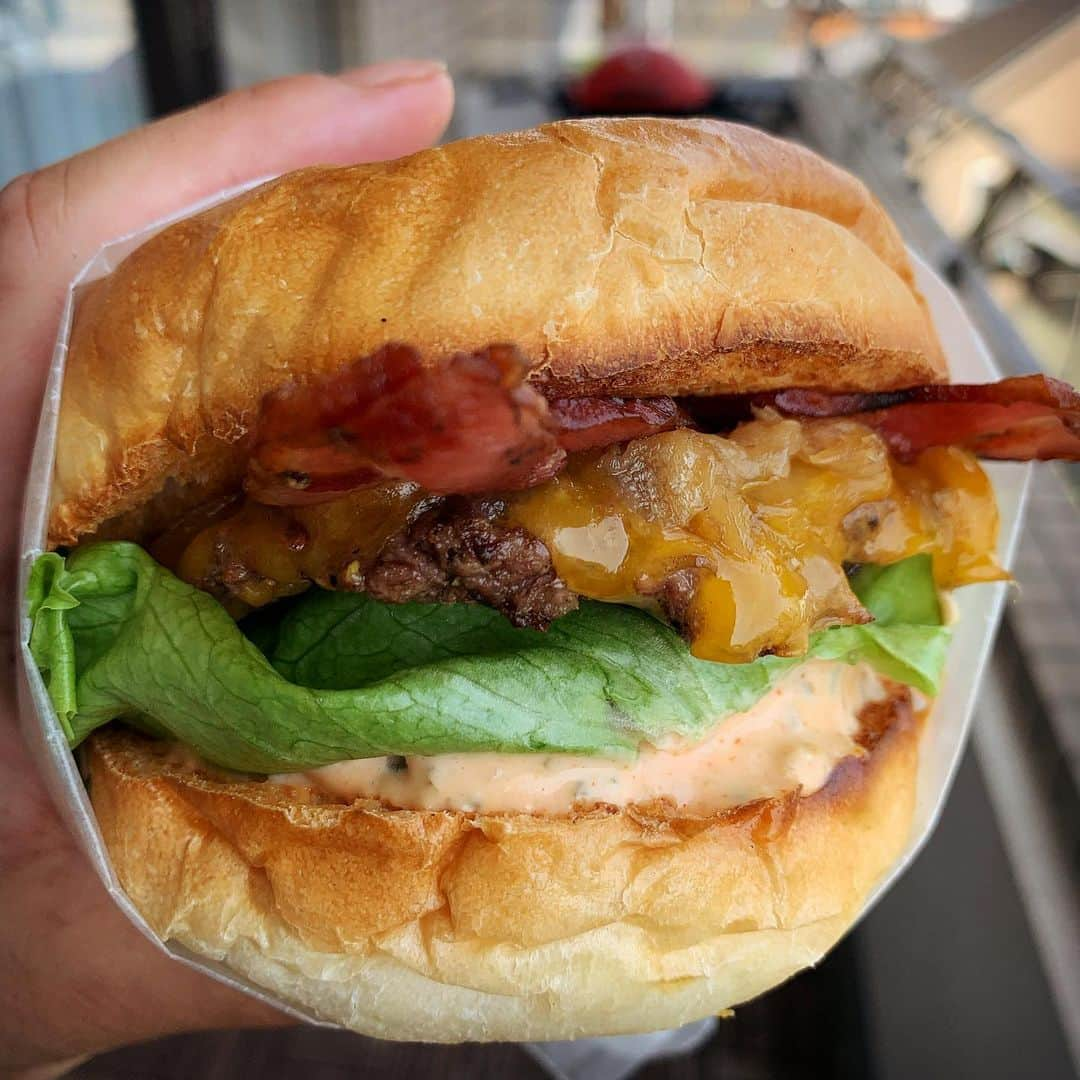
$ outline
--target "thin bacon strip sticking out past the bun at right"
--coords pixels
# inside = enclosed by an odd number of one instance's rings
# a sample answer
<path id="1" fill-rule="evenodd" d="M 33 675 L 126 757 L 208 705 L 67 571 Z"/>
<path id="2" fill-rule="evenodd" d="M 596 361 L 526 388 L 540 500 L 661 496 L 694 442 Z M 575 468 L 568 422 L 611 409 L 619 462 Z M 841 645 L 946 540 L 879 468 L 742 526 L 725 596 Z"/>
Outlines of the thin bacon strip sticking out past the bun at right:
<path id="1" fill-rule="evenodd" d="M 874 428 L 903 461 L 930 446 L 962 446 L 981 458 L 1011 461 L 1080 460 L 1080 393 L 1044 375 L 879 394 L 780 390 L 687 407 L 714 429 L 766 407 L 788 417 L 849 416 Z"/>

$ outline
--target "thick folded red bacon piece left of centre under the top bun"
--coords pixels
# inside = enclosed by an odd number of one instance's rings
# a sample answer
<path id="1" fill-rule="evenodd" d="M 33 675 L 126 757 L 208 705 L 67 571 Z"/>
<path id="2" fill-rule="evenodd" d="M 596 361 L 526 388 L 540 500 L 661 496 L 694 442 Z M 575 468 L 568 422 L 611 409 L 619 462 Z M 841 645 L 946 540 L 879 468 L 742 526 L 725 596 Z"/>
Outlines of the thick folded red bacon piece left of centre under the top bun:
<path id="1" fill-rule="evenodd" d="M 525 382 L 512 346 L 424 364 L 384 346 L 345 372 L 267 395 L 246 487 L 275 505 L 323 502 L 384 478 L 435 495 L 550 480 L 567 453 L 686 422 L 671 399 L 559 399 Z"/>

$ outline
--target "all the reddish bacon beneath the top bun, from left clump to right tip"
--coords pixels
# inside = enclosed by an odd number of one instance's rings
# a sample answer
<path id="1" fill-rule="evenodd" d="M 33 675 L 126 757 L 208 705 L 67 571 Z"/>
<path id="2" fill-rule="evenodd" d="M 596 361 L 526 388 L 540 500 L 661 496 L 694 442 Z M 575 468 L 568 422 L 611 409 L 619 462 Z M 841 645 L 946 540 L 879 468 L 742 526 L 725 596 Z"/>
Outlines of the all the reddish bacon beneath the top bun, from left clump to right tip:
<path id="1" fill-rule="evenodd" d="M 1080 394 L 1045 376 L 890 393 L 780 390 L 687 399 L 561 397 L 525 381 L 511 346 L 426 365 L 384 346 L 345 372 L 269 394 L 246 487 L 260 502 L 324 502 L 386 478 L 434 495 L 511 491 L 554 476 L 567 454 L 669 431 L 693 420 L 724 430 L 754 409 L 850 416 L 901 460 L 930 446 L 984 458 L 1080 460 Z M 685 407 L 684 407 L 685 406 Z"/>

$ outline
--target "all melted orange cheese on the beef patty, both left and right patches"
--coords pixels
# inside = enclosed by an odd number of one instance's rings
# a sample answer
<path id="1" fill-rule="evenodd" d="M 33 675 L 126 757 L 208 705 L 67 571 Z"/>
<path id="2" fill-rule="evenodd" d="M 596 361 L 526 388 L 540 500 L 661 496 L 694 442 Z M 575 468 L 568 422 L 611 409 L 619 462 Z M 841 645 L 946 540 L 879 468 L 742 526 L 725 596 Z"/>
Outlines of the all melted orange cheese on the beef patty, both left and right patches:
<path id="1" fill-rule="evenodd" d="M 349 588 L 431 504 L 409 484 L 288 510 L 247 502 L 174 565 L 252 606 L 311 581 Z M 766 413 L 725 436 L 680 430 L 579 454 L 505 508 L 569 589 L 670 618 L 708 660 L 796 656 L 816 630 L 867 621 L 845 564 L 929 553 L 943 589 L 1005 577 L 994 492 L 969 453 L 901 464 L 846 419 Z"/>

